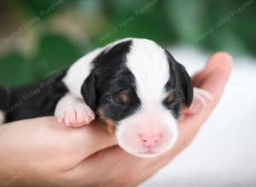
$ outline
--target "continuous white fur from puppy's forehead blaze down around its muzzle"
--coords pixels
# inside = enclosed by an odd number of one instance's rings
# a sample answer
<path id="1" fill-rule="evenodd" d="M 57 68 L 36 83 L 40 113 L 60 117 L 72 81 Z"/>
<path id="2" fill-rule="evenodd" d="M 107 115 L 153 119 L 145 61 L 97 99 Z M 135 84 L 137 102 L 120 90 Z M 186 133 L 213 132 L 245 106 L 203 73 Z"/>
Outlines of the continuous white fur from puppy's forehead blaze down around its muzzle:
<path id="1" fill-rule="evenodd" d="M 119 145 L 136 156 L 159 156 L 170 150 L 177 140 L 177 121 L 162 105 L 162 100 L 166 98 L 165 85 L 170 77 L 165 51 L 155 42 L 134 38 L 126 60 L 127 67 L 136 79 L 137 95 L 142 105 L 136 114 L 119 122 L 116 131 Z M 154 149 L 154 154 L 143 153 L 143 147 L 137 139 L 137 133 L 143 130 L 141 129 L 143 124 L 139 122 L 141 116 L 145 120 L 151 116 L 157 117 L 155 130 L 166 136 L 165 142 Z M 144 126 L 148 129 L 153 128 L 152 122 L 147 122 Z M 137 132 L 132 132 L 131 137 L 127 137 L 131 128 L 137 129 Z M 154 129 L 152 129 L 152 133 L 154 133 Z"/>

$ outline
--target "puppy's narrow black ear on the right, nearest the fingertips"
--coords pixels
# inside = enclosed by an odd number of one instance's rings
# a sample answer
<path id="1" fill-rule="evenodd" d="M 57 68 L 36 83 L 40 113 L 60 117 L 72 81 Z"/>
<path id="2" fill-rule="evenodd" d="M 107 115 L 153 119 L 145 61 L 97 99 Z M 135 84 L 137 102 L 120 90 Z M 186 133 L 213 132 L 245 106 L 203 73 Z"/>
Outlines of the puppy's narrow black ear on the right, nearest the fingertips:
<path id="1" fill-rule="evenodd" d="M 193 100 L 193 83 L 189 77 L 188 72 L 185 70 L 184 66 L 177 63 L 177 78 L 180 80 L 181 87 L 184 94 L 184 103 L 189 106 Z"/>

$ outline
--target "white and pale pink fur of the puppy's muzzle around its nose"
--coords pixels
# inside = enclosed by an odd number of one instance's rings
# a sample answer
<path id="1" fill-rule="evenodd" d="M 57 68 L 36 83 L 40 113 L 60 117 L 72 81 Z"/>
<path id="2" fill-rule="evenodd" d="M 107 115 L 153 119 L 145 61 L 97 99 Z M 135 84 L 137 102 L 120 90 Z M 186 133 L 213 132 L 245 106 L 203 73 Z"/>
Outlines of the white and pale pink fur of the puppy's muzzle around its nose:
<path id="1" fill-rule="evenodd" d="M 149 120 L 152 119 L 155 120 Z M 146 123 L 141 123 L 141 118 L 146 120 Z M 153 122 L 156 121 L 156 122 Z M 149 130 L 161 131 L 165 135 L 165 139 L 160 146 L 154 148 L 153 154 L 148 154 L 140 144 L 137 133 L 148 128 Z M 167 150 L 170 150 L 177 140 L 177 122 L 170 114 L 170 111 L 155 109 L 155 111 L 145 112 L 143 110 L 137 111 L 136 114 L 125 118 L 119 122 L 116 130 L 116 137 L 119 146 L 128 153 L 139 157 L 154 157 L 160 156 Z"/>

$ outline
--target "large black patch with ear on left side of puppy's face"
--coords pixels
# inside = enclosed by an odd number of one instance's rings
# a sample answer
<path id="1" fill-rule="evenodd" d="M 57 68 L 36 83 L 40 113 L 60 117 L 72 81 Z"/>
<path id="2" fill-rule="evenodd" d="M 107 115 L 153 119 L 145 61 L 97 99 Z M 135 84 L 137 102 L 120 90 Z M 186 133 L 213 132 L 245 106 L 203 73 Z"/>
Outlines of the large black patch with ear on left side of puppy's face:
<path id="1" fill-rule="evenodd" d="M 131 41 L 120 42 L 102 51 L 93 60 L 94 69 L 84 82 L 82 94 L 90 108 L 114 121 L 131 115 L 140 105 L 136 94 L 135 78 L 125 65 L 125 55 L 129 52 Z M 122 103 L 119 94 L 128 91 L 131 99 Z"/>

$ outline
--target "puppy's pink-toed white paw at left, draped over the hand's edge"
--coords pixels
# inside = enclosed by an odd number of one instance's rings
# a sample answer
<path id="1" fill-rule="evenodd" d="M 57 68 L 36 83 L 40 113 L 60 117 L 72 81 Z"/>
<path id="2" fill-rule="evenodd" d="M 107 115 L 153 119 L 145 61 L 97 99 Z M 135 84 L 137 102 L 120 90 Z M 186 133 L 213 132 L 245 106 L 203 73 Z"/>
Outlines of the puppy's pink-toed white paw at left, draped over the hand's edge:
<path id="1" fill-rule="evenodd" d="M 58 122 L 68 127 L 81 127 L 92 122 L 95 119 L 95 114 L 88 105 L 76 103 L 68 105 L 56 117 L 58 118 Z"/>

